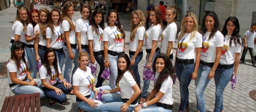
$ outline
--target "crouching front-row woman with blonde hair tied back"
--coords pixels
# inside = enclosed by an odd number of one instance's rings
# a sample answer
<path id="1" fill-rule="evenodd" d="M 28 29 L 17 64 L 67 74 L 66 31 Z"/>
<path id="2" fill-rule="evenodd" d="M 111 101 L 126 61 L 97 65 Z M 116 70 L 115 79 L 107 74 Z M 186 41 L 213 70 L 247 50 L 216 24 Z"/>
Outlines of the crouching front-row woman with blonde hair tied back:
<path id="1" fill-rule="evenodd" d="M 89 63 L 88 53 L 82 51 L 79 53 L 79 67 L 73 76 L 73 90 L 76 95 L 76 103 L 81 112 L 100 112 L 98 108 L 102 102 L 95 100 L 98 90 L 111 90 L 109 86 L 102 86 L 96 88 L 94 86 L 94 77 L 92 76 L 91 69 L 87 67 Z"/>

